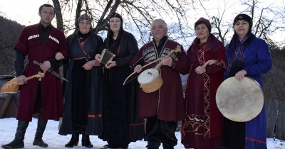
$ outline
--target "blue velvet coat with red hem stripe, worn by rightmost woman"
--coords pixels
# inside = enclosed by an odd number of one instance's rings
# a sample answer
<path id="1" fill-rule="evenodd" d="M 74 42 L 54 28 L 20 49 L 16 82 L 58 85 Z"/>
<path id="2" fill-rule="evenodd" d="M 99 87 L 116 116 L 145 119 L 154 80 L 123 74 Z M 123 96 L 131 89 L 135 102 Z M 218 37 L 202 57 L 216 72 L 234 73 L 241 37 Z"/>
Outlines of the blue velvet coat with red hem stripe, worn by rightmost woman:
<path id="1" fill-rule="evenodd" d="M 229 48 L 226 49 L 226 60 L 229 58 Z M 263 89 L 261 74 L 266 74 L 271 70 L 272 60 L 267 43 L 254 38 L 249 45 L 244 48 L 244 70 L 247 77 L 255 79 Z M 265 106 L 260 114 L 251 121 L 245 122 L 245 146 L 244 148 L 266 148 L 266 116 Z"/>

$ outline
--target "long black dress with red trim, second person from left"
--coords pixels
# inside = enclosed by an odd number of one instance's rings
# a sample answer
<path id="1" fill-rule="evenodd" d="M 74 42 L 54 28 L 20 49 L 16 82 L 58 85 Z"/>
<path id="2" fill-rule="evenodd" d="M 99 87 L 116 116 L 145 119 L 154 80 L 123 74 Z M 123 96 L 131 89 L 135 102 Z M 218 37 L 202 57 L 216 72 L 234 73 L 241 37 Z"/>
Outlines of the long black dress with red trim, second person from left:
<path id="1" fill-rule="evenodd" d="M 103 130 L 103 70 L 99 66 L 85 70 L 83 65 L 89 60 L 94 60 L 95 54 L 99 53 L 103 45 L 103 40 L 100 36 L 89 33 L 82 42 L 78 34 L 74 33 L 67 38 L 68 53 L 71 59 L 63 70 L 69 82 L 63 84 L 65 103 L 59 134 L 101 135 Z"/>

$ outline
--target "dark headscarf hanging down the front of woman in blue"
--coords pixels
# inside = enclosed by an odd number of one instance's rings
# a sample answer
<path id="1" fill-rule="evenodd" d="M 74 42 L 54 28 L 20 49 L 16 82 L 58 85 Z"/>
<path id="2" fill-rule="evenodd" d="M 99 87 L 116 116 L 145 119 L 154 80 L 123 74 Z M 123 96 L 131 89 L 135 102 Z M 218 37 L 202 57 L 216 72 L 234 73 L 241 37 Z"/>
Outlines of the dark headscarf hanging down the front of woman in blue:
<path id="1" fill-rule="evenodd" d="M 246 14 L 239 14 L 234 18 L 233 25 L 240 20 L 244 20 L 249 23 L 249 31 L 247 32 L 247 35 L 242 38 L 242 40 L 239 40 L 239 35 L 237 35 L 237 32 L 234 31 L 231 43 L 228 45 L 229 58 L 227 63 L 226 79 L 229 77 L 234 77 L 237 72 L 244 70 L 244 48 L 246 48 L 247 45 L 249 45 L 249 43 L 251 43 L 255 38 L 255 35 L 252 34 L 252 18 Z"/>

